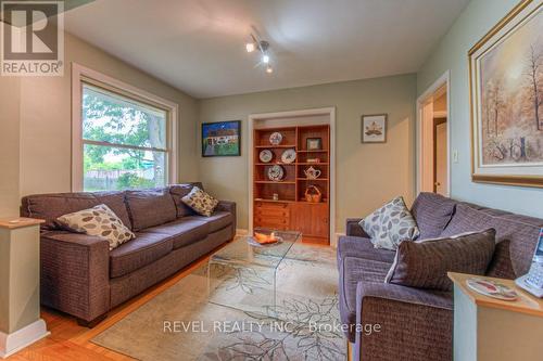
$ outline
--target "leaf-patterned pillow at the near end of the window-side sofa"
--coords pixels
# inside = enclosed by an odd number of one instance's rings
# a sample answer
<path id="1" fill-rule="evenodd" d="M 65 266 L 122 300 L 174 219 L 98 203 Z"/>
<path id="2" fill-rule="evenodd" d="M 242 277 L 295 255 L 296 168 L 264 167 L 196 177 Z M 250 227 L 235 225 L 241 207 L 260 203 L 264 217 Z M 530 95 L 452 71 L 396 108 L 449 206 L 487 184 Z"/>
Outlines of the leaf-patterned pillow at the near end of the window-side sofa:
<path id="1" fill-rule="evenodd" d="M 136 237 L 117 215 L 104 204 L 61 216 L 58 221 L 74 232 L 108 240 L 110 250 Z"/>

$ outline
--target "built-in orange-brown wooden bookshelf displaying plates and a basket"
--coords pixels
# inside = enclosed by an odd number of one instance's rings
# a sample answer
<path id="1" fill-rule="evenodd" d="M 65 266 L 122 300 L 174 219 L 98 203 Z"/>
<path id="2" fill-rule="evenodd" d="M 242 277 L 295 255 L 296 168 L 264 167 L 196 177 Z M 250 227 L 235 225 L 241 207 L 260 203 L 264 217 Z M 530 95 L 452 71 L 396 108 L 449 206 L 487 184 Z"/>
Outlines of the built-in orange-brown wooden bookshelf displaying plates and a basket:
<path id="1" fill-rule="evenodd" d="M 270 143 L 274 132 L 282 136 L 279 144 Z M 300 231 L 304 242 L 329 244 L 330 127 L 304 125 L 255 129 L 253 137 L 253 225 Z M 307 149 L 308 139 L 320 139 L 320 146 Z M 263 150 L 273 153 L 270 162 L 260 159 Z M 281 162 L 287 150 L 296 152 L 295 160 L 289 164 Z M 282 167 L 285 172 L 280 181 L 268 178 L 268 170 L 275 165 Z M 320 172 L 318 178 L 306 176 L 305 170 L 311 167 Z M 311 185 L 320 191 L 320 202 L 305 199 L 305 192 Z M 313 189 L 312 193 L 315 193 Z"/>

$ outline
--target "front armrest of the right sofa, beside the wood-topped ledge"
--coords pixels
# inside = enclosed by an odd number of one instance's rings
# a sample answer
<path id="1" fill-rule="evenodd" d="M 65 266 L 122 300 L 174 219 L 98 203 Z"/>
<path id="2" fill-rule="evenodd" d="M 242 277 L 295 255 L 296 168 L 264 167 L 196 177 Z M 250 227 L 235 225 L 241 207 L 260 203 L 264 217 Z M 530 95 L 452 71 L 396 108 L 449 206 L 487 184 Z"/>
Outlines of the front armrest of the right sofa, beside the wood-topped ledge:
<path id="1" fill-rule="evenodd" d="M 356 324 L 378 324 L 379 332 L 356 333 L 355 360 L 452 360 L 452 297 L 449 292 L 358 282 Z"/>

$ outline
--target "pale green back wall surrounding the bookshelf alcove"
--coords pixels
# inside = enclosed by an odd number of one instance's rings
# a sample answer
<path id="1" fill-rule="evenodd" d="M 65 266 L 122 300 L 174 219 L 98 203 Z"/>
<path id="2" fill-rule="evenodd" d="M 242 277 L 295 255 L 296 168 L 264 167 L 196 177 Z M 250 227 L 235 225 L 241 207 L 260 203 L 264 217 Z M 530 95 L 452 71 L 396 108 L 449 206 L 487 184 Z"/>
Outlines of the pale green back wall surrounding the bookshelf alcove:
<path id="1" fill-rule="evenodd" d="M 415 192 L 415 75 L 333 82 L 313 87 L 200 101 L 200 123 L 242 121 L 241 157 L 200 159 L 200 179 L 219 198 L 238 204 L 238 227 L 249 227 L 248 117 L 336 107 L 336 231 L 345 218 L 363 217 L 394 196 Z M 361 116 L 388 113 L 388 141 L 361 143 Z"/>

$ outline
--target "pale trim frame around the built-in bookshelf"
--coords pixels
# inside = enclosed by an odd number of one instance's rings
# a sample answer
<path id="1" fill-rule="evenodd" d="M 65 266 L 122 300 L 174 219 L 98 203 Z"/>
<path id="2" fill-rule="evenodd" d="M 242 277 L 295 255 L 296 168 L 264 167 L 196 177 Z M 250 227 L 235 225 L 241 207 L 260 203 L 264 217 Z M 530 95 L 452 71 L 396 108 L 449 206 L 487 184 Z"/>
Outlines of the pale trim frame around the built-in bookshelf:
<path id="1" fill-rule="evenodd" d="M 330 125 L 330 246 L 336 245 L 336 107 L 321 107 L 321 108 L 310 108 L 302 111 L 287 111 L 287 112 L 275 112 L 275 113 L 257 113 L 250 114 L 248 118 L 249 124 L 249 141 L 248 141 L 248 184 L 249 188 L 249 232 L 252 234 L 253 232 L 253 212 L 254 212 L 254 204 L 253 204 L 253 158 L 254 158 L 254 123 L 256 120 L 273 120 L 273 119 L 290 119 L 296 117 L 306 117 L 313 115 L 326 115 L 329 118 Z"/>

